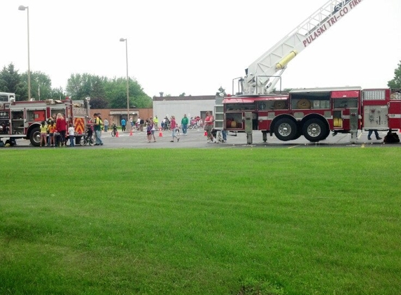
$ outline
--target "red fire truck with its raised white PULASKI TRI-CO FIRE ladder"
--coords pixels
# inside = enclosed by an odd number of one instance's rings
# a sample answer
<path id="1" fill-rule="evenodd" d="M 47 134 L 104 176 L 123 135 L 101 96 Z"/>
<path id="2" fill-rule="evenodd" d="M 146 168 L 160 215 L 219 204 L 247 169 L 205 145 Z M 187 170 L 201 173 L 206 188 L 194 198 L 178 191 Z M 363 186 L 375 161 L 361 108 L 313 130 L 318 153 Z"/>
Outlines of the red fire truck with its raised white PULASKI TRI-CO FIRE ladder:
<path id="1" fill-rule="evenodd" d="M 401 129 L 398 90 L 337 87 L 272 94 L 288 62 L 360 2 L 329 0 L 256 59 L 243 78 L 233 80 L 233 86 L 237 81 L 239 89 L 235 96 L 216 97 L 214 128 L 245 131 L 248 144 L 252 143 L 253 130 L 262 131 L 263 141 L 267 141 L 267 134 L 281 141 L 300 136 L 312 142 L 323 141 L 332 131 L 350 133 L 354 142 L 360 129 Z"/>

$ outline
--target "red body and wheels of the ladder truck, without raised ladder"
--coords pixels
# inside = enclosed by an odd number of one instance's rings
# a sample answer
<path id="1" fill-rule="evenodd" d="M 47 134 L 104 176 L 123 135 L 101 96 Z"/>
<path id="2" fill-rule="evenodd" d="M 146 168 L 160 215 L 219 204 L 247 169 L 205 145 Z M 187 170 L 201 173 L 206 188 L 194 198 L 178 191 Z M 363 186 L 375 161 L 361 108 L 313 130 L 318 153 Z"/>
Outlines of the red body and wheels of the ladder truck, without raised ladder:
<path id="1" fill-rule="evenodd" d="M 273 134 L 281 141 L 304 136 L 323 141 L 332 131 L 350 133 L 356 141 L 358 130 L 401 129 L 401 92 L 391 89 L 338 87 L 295 89 L 288 94 L 232 96 L 223 100 L 227 131 L 260 130 L 263 141 Z M 217 117 L 217 114 L 216 114 Z"/>

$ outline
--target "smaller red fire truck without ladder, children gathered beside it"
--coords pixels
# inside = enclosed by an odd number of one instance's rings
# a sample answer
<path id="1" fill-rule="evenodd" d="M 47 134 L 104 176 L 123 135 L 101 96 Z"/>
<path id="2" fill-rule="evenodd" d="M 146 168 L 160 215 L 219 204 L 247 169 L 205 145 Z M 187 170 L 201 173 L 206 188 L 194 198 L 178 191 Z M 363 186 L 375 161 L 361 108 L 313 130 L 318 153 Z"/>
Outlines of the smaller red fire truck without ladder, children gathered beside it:
<path id="1" fill-rule="evenodd" d="M 47 99 L 45 101 L 15 101 L 15 94 L 0 92 L 0 141 L 6 138 L 15 143 L 18 138 L 29 139 L 31 144 L 40 143 L 40 124 L 53 115 L 61 113 L 67 124 L 73 123 L 76 142 L 85 134 L 85 117 L 89 116 L 89 101 L 86 98 L 73 101 Z"/>

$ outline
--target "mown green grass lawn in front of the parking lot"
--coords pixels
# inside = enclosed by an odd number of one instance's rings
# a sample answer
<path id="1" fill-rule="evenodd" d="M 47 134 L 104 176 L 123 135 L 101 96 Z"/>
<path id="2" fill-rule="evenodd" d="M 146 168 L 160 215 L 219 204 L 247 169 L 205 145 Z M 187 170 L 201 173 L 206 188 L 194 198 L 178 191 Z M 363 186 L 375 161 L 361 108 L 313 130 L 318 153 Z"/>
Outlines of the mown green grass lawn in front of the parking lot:
<path id="1" fill-rule="evenodd" d="M 1 150 L 0 294 L 401 294 L 401 150 Z"/>

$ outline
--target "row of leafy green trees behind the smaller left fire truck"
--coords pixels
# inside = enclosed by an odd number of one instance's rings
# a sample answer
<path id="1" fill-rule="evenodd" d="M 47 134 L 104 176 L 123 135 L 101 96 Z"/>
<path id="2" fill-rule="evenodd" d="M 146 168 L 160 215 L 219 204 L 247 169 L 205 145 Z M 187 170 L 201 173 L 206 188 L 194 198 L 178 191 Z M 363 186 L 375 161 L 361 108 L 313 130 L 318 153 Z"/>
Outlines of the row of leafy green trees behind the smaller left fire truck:
<path id="1" fill-rule="evenodd" d="M 0 71 L 0 92 L 15 93 L 17 101 L 28 97 L 28 75 L 18 73 L 11 63 Z M 151 108 L 153 101 L 141 85 L 129 78 L 129 106 L 131 108 Z M 42 72 L 31 73 L 31 97 L 35 99 L 64 99 L 70 96 L 73 100 L 90 97 L 92 108 L 127 108 L 127 79 L 99 77 L 98 75 L 71 74 L 67 81 L 66 93 L 62 87 L 52 88 L 48 75 Z M 184 93 L 185 94 L 185 93 Z"/>

